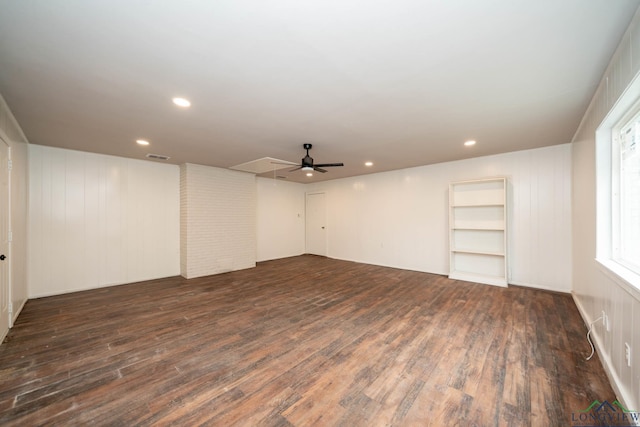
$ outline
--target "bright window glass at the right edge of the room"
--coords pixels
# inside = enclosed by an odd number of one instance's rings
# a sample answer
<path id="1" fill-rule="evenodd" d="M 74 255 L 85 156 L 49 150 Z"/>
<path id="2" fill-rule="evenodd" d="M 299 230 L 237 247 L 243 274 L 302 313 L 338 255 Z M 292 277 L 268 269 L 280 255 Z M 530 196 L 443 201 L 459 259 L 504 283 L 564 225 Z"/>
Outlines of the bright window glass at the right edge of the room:
<path id="1" fill-rule="evenodd" d="M 613 259 L 640 274 L 640 112 L 613 129 Z"/>

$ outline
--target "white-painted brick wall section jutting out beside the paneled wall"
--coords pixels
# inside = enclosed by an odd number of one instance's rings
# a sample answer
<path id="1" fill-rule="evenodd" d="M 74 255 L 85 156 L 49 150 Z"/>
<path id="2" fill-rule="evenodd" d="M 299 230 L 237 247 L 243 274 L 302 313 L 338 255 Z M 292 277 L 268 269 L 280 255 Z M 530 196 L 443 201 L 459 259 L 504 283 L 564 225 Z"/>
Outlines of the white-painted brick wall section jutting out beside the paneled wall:
<path id="1" fill-rule="evenodd" d="M 180 270 L 190 279 L 256 265 L 256 178 L 180 166 Z"/>

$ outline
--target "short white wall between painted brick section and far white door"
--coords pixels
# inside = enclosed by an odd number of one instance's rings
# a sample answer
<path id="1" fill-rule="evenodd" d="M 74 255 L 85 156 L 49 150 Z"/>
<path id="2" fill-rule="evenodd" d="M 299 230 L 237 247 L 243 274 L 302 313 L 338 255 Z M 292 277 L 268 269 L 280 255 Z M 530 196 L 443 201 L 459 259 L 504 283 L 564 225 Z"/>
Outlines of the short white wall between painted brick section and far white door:
<path id="1" fill-rule="evenodd" d="M 303 254 L 306 186 L 260 177 L 256 179 L 256 185 L 257 260 Z"/>

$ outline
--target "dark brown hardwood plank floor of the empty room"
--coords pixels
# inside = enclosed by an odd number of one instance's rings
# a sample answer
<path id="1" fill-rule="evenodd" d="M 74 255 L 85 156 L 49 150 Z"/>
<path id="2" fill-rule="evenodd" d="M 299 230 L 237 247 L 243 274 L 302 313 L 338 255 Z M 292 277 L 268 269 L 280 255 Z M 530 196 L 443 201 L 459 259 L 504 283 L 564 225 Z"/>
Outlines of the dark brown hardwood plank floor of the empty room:
<path id="1" fill-rule="evenodd" d="M 615 400 L 569 295 L 301 256 L 31 300 L 0 425 L 571 425 Z"/>

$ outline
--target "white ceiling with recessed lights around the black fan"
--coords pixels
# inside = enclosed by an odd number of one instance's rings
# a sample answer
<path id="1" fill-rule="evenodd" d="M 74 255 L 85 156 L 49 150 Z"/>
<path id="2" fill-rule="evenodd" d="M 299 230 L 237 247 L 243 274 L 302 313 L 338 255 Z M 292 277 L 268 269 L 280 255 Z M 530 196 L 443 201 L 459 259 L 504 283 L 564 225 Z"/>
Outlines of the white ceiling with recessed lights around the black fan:
<path id="1" fill-rule="evenodd" d="M 570 142 L 639 5 L 0 0 L 0 93 L 34 144 L 334 179 Z"/>

